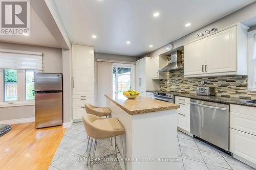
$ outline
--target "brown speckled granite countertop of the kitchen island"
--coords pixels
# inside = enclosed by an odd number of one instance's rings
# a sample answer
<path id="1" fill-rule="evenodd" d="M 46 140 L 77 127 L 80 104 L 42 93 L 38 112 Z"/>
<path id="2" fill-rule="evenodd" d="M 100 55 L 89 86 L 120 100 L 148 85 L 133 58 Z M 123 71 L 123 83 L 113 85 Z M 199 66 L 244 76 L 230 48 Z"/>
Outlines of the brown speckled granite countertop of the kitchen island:
<path id="1" fill-rule="evenodd" d="M 180 108 L 180 105 L 177 104 L 145 98 L 143 96 L 138 96 L 135 99 L 127 99 L 122 94 L 117 96 L 115 94 L 105 94 L 105 96 L 131 115 Z"/>

